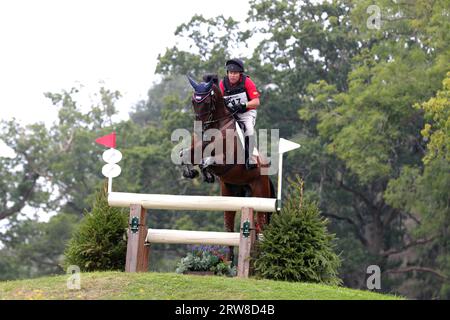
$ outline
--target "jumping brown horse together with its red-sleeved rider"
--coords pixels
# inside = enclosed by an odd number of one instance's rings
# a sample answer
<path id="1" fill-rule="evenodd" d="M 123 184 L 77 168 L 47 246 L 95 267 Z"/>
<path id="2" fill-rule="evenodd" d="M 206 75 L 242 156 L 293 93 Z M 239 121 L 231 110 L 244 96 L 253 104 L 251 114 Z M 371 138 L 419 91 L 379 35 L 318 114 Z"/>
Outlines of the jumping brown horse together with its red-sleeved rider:
<path id="1" fill-rule="evenodd" d="M 234 121 L 233 116 L 238 115 L 239 120 L 245 124 L 245 135 L 247 138 L 247 150 L 253 150 L 251 144 L 251 136 L 254 135 L 254 124 L 256 119 L 256 107 L 259 105 L 259 93 L 256 90 L 255 84 L 243 74 L 244 65 L 242 61 L 233 59 L 227 61 L 227 76 L 218 85 L 218 77 L 216 74 L 206 74 L 203 76 L 202 83 L 197 83 L 194 79 L 188 76 L 189 82 L 194 89 L 192 96 L 192 107 L 195 113 L 195 119 L 202 123 L 201 134 L 207 132 L 209 129 L 216 129 L 221 134 L 214 135 L 214 143 L 222 145 L 221 147 L 215 147 L 213 144 L 212 149 L 208 149 L 209 154 L 207 159 L 202 158 L 201 165 L 199 167 L 206 182 L 214 182 L 214 177 L 218 177 L 220 181 L 220 189 L 222 196 L 232 197 L 275 197 L 275 191 L 273 184 L 267 174 L 262 172 L 263 161 L 258 159 L 258 166 L 256 168 L 248 170 L 249 165 L 252 163 L 247 160 L 247 166 L 244 166 L 238 156 L 239 134 L 234 134 L 229 144 L 228 130 L 238 130 L 237 121 Z M 228 107 L 225 105 L 228 104 Z M 230 110 L 232 109 L 232 110 Z M 239 121 L 238 120 L 238 121 Z M 193 169 L 194 163 L 198 164 L 195 159 L 196 148 L 201 149 L 202 157 L 204 152 L 211 143 L 203 141 L 203 138 L 191 139 L 191 146 L 187 149 L 180 151 L 180 157 L 182 158 L 181 164 L 183 165 L 183 176 L 186 178 L 195 178 L 198 175 L 198 171 Z M 217 139 L 217 140 L 216 140 Z M 197 140 L 197 142 L 196 142 Z M 227 141 L 226 141 L 227 140 Z M 222 141 L 222 144 L 220 144 Z M 223 146 L 232 147 L 230 153 L 232 163 L 229 163 L 228 151 L 223 150 Z M 214 151 L 214 155 L 213 152 Z M 251 158 L 252 152 L 247 152 L 248 158 Z M 210 163 L 208 158 L 213 158 Z M 217 160 L 221 163 L 217 163 Z M 225 229 L 230 232 L 234 232 L 234 217 L 236 211 L 224 212 L 224 224 Z M 264 226 L 269 221 L 270 213 L 257 212 L 255 229 L 257 233 L 263 230 Z"/>

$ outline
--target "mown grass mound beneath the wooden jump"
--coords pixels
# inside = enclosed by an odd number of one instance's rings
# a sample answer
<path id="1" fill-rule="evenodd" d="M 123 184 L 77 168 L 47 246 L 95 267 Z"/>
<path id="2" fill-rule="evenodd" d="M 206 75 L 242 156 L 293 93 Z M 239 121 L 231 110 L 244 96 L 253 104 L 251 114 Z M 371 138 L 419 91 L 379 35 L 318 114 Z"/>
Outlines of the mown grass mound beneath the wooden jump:
<path id="1" fill-rule="evenodd" d="M 0 282 L 0 300 L 390 300 L 370 291 L 311 283 L 238 279 L 175 273 L 81 274 L 81 289 L 68 276 Z"/>

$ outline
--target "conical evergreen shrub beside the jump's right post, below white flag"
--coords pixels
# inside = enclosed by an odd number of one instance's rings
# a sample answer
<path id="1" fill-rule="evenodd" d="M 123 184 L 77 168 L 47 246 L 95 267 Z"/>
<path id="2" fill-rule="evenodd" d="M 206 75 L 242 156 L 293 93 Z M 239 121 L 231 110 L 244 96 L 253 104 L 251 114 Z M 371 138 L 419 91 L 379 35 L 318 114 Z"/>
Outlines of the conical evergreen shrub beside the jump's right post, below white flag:
<path id="1" fill-rule="evenodd" d="M 315 202 L 304 201 L 303 182 L 290 181 L 290 193 L 280 214 L 272 215 L 264 239 L 257 245 L 257 276 L 266 279 L 339 285 L 341 264 L 333 251 L 334 235 Z"/>

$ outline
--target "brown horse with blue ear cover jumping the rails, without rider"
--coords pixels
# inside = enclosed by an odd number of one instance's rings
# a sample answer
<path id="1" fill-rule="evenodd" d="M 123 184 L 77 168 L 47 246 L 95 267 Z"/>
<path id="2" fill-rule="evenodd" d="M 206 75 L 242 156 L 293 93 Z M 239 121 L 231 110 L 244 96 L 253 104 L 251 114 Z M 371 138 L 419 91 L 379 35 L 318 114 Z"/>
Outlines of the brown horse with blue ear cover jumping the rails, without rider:
<path id="1" fill-rule="evenodd" d="M 190 148 L 183 150 L 180 156 L 184 159 L 186 159 L 185 157 L 190 157 L 192 160 L 194 159 L 195 148 L 201 148 L 201 154 L 203 155 L 203 152 L 211 143 L 218 142 L 216 139 L 222 139 L 222 144 L 216 144 L 216 146 L 222 145 L 225 148 L 228 141 L 228 147 L 231 146 L 232 150 L 217 150 L 216 148 L 213 150 L 211 157 L 205 159 L 202 156 L 202 162 L 198 165 L 204 181 L 212 183 L 217 177 L 220 182 L 221 195 L 225 197 L 275 198 L 272 181 L 267 174 L 261 174 L 261 168 L 266 165 L 261 156 L 257 158 L 257 167 L 251 170 L 247 170 L 242 161 L 239 163 L 238 152 L 241 151 L 240 154 L 242 155 L 243 147 L 238 140 L 237 134 L 235 134 L 238 126 L 234 118 L 235 112 L 232 112 L 225 106 L 222 92 L 216 84 L 217 82 L 214 83 L 215 79 L 211 77 L 209 82 L 201 83 L 197 83 L 189 76 L 188 79 L 194 88 L 192 107 L 196 120 L 202 123 L 202 136 L 209 129 L 216 129 L 215 132 L 220 132 L 220 136 L 216 135 L 214 140 L 211 139 L 211 142 L 203 141 L 204 139 L 201 139 L 201 137 L 197 137 L 199 138 L 197 140 L 193 137 Z M 227 130 L 228 132 L 231 130 L 234 133 L 231 141 L 227 140 Z M 228 135 L 228 137 L 230 136 Z M 229 151 L 233 151 L 233 161 L 226 159 Z M 182 165 L 184 177 L 193 179 L 198 176 L 198 171 L 193 168 L 193 161 L 183 160 Z M 270 214 L 268 212 L 256 213 L 255 229 L 257 234 L 262 232 L 264 226 L 269 223 Z M 227 232 L 234 232 L 235 215 L 236 212 L 234 211 L 224 212 L 224 226 Z M 233 257 L 232 248 L 230 247 L 231 254 L 227 257 L 231 261 Z"/>

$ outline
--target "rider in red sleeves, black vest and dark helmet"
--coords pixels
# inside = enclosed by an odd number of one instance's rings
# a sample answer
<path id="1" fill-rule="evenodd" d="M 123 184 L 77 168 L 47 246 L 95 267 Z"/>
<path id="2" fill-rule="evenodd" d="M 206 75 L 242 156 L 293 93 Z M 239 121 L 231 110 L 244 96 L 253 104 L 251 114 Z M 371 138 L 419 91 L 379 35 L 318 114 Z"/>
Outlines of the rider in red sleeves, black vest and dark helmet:
<path id="1" fill-rule="evenodd" d="M 257 167 L 252 151 L 256 143 L 255 122 L 259 106 L 259 92 L 255 83 L 244 73 L 244 62 L 231 59 L 225 63 L 227 75 L 220 81 L 219 87 L 225 105 L 236 112 L 236 120 L 244 128 L 245 167 L 247 170 Z"/>

